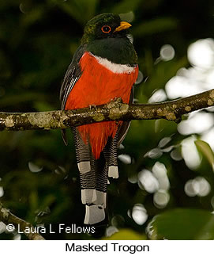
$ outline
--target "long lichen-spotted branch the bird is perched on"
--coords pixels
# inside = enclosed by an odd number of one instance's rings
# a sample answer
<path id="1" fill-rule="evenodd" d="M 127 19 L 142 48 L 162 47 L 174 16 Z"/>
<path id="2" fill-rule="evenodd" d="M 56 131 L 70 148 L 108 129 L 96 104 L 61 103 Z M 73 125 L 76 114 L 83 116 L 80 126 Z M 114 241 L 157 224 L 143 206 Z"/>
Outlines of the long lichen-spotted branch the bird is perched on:
<path id="1" fill-rule="evenodd" d="M 110 120 L 166 119 L 178 122 L 182 115 L 214 105 L 214 90 L 156 104 L 122 103 L 120 98 L 106 105 L 75 110 L 56 110 L 37 113 L 0 112 L 0 131 L 69 128 L 82 124 Z"/>

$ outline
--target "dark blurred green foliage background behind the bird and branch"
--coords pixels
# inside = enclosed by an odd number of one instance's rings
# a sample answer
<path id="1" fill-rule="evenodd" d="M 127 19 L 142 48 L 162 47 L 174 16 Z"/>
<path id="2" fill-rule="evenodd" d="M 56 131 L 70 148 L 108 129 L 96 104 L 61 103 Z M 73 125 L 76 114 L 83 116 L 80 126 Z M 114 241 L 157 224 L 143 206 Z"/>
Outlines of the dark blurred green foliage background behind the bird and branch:
<path id="1" fill-rule="evenodd" d="M 186 49 L 190 43 L 213 36 L 212 0 L 1 1 L 1 111 L 60 109 L 62 78 L 80 44 L 84 24 L 94 15 L 106 12 L 134 13 L 133 44 L 144 75 L 143 82 L 135 86 L 139 102 L 147 102 L 155 90 L 164 89 L 180 67 L 189 66 Z M 163 44 L 175 48 L 174 59 L 157 61 Z M 60 131 L 0 133 L 0 186 L 4 191 L 1 201 L 15 215 L 35 225 L 82 226 L 84 206 L 71 132 L 68 137 L 66 147 Z M 160 140 L 165 137 L 171 141 L 160 150 Z M 166 120 L 132 122 L 123 142 L 125 147 L 118 152 L 130 155 L 132 161 L 119 161 L 120 177 L 108 186 L 109 223 L 119 231 L 112 239 L 213 239 L 213 153 L 205 143 L 197 143 L 201 166 L 190 170 L 183 159 L 171 158 L 171 151 L 179 153 L 185 137 L 177 132 L 177 124 Z M 172 149 L 164 151 L 167 147 Z M 154 148 L 161 154 L 145 156 Z M 162 208 L 156 207 L 153 194 L 137 183 L 139 172 L 152 170 L 157 161 L 166 166 L 171 185 L 170 201 Z M 184 191 L 186 181 L 199 175 L 211 185 L 210 193 L 188 197 Z M 135 204 L 144 205 L 147 211 L 148 220 L 143 225 L 131 217 Z M 146 232 L 151 220 L 152 237 Z M 92 239 L 90 235 L 63 232 L 44 237 Z M 0 239 L 13 236 L 2 232 Z M 25 239 L 24 235 L 21 239 Z"/>

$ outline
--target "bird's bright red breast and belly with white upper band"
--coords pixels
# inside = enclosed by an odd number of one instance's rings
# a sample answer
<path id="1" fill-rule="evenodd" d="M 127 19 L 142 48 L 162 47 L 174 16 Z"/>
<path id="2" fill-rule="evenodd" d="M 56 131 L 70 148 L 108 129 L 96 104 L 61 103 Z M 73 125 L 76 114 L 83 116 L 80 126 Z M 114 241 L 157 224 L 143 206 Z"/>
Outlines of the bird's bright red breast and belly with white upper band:
<path id="1" fill-rule="evenodd" d="M 85 52 L 80 60 L 81 78 L 73 86 L 65 109 L 101 105 L 115 97 L 121 97 L 123 102 L 128 103 L 133 83 L 137 80 L 138 67 L 125 66 Z M 78 127 L 84 143 L 90 143 L 95 159 L 99 159 L 108 137 L 115 136 L 121 122 L 102 122 Z"/>

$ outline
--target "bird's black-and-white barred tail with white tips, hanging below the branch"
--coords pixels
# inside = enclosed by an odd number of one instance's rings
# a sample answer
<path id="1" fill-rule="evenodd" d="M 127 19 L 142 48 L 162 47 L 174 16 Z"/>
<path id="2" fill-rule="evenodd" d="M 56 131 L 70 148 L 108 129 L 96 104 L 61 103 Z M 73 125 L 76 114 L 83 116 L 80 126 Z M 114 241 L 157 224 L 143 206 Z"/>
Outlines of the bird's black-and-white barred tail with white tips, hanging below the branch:
<path id="1" fill-rule="evenodd" d="M 84 224 L 98 224 L 107 219 L 107 177 L 118 178 L 117 141 L 109 138 L 99 159 L 92 155 L 77 128 L 73 128 L 77 165 L 81 179 L 81 201 L 85 204 Z"/>

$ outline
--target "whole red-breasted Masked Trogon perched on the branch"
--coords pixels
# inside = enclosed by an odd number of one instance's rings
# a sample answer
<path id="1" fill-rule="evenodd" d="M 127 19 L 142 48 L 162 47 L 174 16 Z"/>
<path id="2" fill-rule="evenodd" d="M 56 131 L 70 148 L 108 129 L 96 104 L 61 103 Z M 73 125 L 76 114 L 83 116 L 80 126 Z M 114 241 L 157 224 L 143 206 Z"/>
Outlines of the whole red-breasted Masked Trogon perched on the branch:
<path id="1" fill-rule="evenodd" d="M 124 103 L 133 102 L 139 69 L 130 27 L 114 13 L 102 13 L 88 21 L 62 81 L 63 110 L 102 105 L 117 97 Z M 84 224 L 107 220 L 108 178 L 118 178 L 117 149 L 129 127 L 130 121 L 113 120 L 73 128 Z M 62 137 L 67 144 L 65 129 Z"/>

